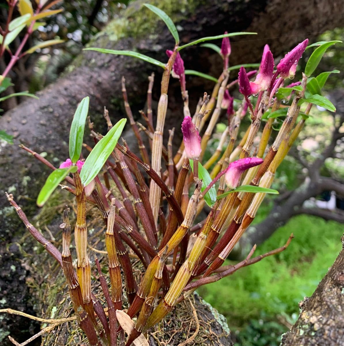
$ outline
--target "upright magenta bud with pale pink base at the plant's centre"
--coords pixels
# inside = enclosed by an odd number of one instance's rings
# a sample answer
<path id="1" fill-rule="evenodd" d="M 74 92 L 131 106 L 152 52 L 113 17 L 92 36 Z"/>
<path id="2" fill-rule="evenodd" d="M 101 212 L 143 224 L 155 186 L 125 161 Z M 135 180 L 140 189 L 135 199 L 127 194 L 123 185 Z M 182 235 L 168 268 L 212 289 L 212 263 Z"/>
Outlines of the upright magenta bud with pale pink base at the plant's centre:
<path id="1" fill-rule="evenodd" d="M 197 160 L 201 154 L 201 137 L 191 117 L 184 118 L 182 133 L 186 157 L 190 160 Z"/>

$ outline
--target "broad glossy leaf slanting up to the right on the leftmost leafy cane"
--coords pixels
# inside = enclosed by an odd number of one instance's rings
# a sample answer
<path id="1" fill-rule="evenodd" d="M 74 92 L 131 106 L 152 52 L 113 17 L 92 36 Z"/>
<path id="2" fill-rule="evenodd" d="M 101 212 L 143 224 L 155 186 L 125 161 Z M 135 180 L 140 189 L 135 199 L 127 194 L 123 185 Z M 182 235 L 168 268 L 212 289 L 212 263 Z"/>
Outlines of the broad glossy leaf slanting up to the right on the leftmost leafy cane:
<path id="1" fill-rule="evenodd" d="M 111 155 L 119 137 L 122 134 L 127 119 L 121 119 L 112 129 L 94 146 L 87 156 L 80 172 L 81 182 L 84 186 L 89 184 L 100 172 L 106 160 Z"/>

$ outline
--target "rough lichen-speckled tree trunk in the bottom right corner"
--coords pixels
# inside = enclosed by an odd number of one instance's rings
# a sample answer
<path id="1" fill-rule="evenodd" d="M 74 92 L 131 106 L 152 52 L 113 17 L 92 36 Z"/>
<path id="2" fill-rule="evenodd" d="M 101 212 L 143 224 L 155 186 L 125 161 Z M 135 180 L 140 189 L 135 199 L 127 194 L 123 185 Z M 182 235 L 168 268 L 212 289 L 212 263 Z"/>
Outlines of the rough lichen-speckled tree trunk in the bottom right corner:
<path id="1" fill-rule="evenodd" d="M 343 249 L 312 297 L 299 303 L 300 316 L 283 334 L 281 346 L 344 345 L 344 237 Z"/>

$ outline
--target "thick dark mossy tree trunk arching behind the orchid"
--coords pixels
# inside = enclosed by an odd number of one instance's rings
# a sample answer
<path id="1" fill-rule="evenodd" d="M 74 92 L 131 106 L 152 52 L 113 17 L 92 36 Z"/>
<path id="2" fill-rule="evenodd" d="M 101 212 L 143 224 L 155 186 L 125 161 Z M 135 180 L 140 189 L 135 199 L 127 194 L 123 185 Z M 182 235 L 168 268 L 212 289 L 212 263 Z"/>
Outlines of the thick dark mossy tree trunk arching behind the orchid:
<path id="1" fill-rule="evenodd" d="M 115 19 L 102 33 L 97 35 L 92 46 L 112 49 L 138 49 L 140 52 L 165 59 L 165 49 L 173 47 L 173 41 L 161 21 L 142 9 L 142 3 L 135 1 L 121 18 Z M 315 0 L 302 3 L 298 0 L 193 0 L 193 1 L 151 1 L 164 9 L 180 29 L 182 43 L 208 35 L 228 31 L 257 31 L 257 37 L 239 37 L 232 40 L 231 63 L 245 63 L 259 60 L 265 43 L 277 56 L 302 40 L 307 33 L 319 33 L 341 23 L 343 8 L 335 0 Z M 288 16 L 286 16 L 288 13 Z M 321 13 L 321 15 L 319 15 Z M 331 21 L 328 20 L 331 18 Z M 252 39 L 257 39 L 250 42 Z M 248 41 L 248 42 L 247 42 Z M 220 61 L 216 54 L 207 49 L 190 48 L 184 51 L 186 67 L 197 66 L 198 70 L 219 75 Z M 15 309 L 31 312 L 30 294 L 24 284 L 28 267 L 21 266 L 22 249 L 15 245 L 24 233 L 24 227 L 17 216 L 7 206 L 4 191 L 13 193 L 32 217 L 37 209 L 35 199 L 47 170 L 33 157 L 18 150 L 22 142 L 36 152 L 46 152 L 55 164 L 67 156 L 68 129 L 78 101 L 85 95 L 91 97 L 90 113 L 101 129 L 102 108 L 110 110 L 112 118 L 123 117 L 120 78 L 125 75 L 127 90 L 133 110 L 143 108 L 147 89 L 147 76 L 154 67 L 127 57 L 101 55 L 83 52 L 69 66 L 66 73 L 56 83 L 38 93 L 40 99 L 27 100 L 19 107 L 0 118 L 0 128 L 15 136 L 15 145 L 0 148 L 0 225 L 1 225 L 1 287 L 0 302 L 11 302 Z M 160 72 L 156 72 L 155 95 L 158 94 Z M 175 82 L 175 85 L 177 83 Z M 176 124 L 181 117 L 180 93 L 169 97 L 168 117 Z M 191 109 L 204 91 L 211 91 L 210 82 L 190 78 L 188 90 Z M 169 126 L 167 124 L 167 126 Z M 27 239 L 26 239 L 27 242 Z M 32 243 L 27 242 L 24 251 L 30 253 Z M 6 246 L 7 245 L 7 246 Z M 22 244 L 21 244 L 22 245 Z M 35 261 L 35 260 L 34 260 Z M 12 271 L 15 274 L 12 274 Z M 18 293 L 15 293 L 17 291 Z M 18 298 L 20 297 L 20 298 Z M 2 307 L 2 306 L 1 306 Z M 1 327 L 11 329 L 19 335 L 26 320 L 4 318 Z M 12 324 L 11 324 L 12 323 Z M 25 338 L 25 337 L 23 337 Z M 20 338 L 18 338 L 20 339 Z"/>

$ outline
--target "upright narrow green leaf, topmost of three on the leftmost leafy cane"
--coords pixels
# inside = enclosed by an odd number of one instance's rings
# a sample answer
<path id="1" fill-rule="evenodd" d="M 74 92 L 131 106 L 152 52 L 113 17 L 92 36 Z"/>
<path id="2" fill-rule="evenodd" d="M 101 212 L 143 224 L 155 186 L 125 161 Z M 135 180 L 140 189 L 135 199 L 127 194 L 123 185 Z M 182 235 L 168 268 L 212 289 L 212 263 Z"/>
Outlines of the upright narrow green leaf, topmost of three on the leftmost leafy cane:
<path id="1" fill-rule="evenodd" d="M 74 113 L 71 130 L 69 131 L 69 158 L 73 163 L 78 161 L 80 157 L 89 104 L 90 98 L 88 96 L 81 100 Z"/>

